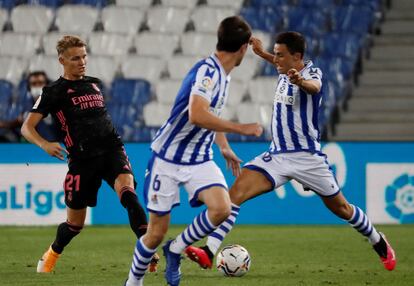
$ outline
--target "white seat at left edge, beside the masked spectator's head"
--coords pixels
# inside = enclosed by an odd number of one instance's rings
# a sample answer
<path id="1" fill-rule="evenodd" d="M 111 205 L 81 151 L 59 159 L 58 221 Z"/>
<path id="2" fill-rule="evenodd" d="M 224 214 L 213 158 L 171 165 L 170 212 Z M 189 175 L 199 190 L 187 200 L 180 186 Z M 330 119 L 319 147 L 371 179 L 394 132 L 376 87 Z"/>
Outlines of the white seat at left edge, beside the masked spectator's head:
<path id="1" fill-rule="evenodd" d="M 26 71 L 26 60 L 18 57 L 0 56 L 0 79 L 16 85 Z"/>

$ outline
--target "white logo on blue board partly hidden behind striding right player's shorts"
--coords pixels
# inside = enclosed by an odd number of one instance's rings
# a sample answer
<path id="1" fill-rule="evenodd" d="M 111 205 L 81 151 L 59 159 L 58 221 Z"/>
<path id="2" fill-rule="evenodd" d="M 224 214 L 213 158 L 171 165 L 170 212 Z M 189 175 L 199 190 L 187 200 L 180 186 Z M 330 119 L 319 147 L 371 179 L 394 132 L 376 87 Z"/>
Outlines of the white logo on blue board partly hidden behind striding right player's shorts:
<path id="1" fill-rule="evenodd" d="M 341 146 L 339 146 L 336 143 L 329 143 L 329 144 L 326 144 L 322 148 L 322 152 L 328 156 L 328 162 L 330 164 L 332 172 L 336 176 L 336 180 L 338 181 L 339 188 L 342 189 L 346 183 L 347 166 L 346 166 L 345 154 L 342 151 Z M 291 180 L 290 184 L 295 190 L 295 192 L 301 197 L 312 197 L 316 195 L 312 191 L 305 191 L 303 189 L 302 184 L 298 183 L 295 180 Z M 282 186 L 276 189 L 275 193 L 279 199 L 285 198 L 286 197 L 285 186 Z"/>

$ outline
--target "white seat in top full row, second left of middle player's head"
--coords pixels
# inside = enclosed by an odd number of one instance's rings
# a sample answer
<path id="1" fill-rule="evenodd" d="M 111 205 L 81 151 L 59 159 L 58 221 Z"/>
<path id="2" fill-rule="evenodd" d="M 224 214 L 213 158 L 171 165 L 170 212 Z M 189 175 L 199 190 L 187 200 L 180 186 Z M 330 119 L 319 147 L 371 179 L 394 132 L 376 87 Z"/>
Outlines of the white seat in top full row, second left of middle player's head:
<path id="1" fill-rule="evenodd" d="M 157 6 L 148 10 L 147 18 L 148 27 L 152 32 L 181 34 L 188 22 L 189 10 Z"/>

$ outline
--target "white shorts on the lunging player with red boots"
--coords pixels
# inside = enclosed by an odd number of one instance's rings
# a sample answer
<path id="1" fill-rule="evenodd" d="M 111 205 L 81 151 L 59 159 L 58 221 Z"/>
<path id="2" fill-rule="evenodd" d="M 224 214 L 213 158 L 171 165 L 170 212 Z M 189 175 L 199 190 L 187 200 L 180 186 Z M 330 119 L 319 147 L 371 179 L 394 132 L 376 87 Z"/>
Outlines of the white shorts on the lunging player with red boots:
<path id="1" fill-rule="evenodd" d="M 335 196 L 339 192 L 338 183 L 326 155 L 322 153 L 265 152 L 246 163 L 243 168 L 262 173 L 274 189 L 294 179 L 301 183 L 305 190 L 312 190 L 323 197 Z"/>

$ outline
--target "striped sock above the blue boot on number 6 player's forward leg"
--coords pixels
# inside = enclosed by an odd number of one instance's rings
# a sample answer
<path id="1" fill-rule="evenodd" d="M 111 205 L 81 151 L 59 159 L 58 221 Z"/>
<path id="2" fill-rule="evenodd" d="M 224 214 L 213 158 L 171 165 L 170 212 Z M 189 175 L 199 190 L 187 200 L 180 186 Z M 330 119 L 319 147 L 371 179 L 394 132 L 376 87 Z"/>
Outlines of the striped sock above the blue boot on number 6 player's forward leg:
<path id="1" fill-rule="evenodd" d="M 187 246 L 209 235 L 216 228 L 208 218 L 208 210 L 195 217 L 193 222 L 171 243 L 170 250 L 181 253 Z"/>

